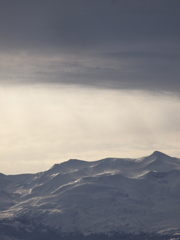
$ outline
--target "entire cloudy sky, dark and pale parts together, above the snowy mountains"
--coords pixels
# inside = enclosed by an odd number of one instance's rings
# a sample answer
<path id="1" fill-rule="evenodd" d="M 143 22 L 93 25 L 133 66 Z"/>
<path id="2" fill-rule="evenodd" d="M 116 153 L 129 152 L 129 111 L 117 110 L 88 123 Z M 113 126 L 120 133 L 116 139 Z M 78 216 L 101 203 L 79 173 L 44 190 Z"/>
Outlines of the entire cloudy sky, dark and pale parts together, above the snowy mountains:
<path id="1" fill-rule="evenodd" d="M 179 0 L 1 0 L 0 172 L 180 157 Z"/>

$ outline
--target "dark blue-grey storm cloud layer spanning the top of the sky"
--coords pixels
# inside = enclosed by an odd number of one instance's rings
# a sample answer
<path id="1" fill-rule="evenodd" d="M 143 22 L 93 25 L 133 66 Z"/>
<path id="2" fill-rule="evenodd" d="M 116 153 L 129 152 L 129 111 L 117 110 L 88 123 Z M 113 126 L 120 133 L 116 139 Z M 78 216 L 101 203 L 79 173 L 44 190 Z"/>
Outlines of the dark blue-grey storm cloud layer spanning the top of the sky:
<path id="1" fill-rule="evenodd" d="M 66 59 L 32 82 L 180 91 L 179 12 L 179 0 L 2 0 L 0 51 Z"/>

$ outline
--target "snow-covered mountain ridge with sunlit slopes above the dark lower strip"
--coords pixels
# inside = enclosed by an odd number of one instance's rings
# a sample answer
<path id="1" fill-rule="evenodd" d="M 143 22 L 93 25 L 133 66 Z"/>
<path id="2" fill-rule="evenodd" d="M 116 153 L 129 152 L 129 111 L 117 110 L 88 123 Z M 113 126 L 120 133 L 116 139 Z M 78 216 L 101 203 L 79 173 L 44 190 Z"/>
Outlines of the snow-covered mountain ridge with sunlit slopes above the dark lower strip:
<path id="1" fill-rule="evenodd" d="M 180 159 L 155 151 L 139 159 L 71 159 L 37 174 L 0 174 L 0 236 L 13 239 L 7 231 L 18 236 L 38 226 L 85 235 L 177 233 Z"/>

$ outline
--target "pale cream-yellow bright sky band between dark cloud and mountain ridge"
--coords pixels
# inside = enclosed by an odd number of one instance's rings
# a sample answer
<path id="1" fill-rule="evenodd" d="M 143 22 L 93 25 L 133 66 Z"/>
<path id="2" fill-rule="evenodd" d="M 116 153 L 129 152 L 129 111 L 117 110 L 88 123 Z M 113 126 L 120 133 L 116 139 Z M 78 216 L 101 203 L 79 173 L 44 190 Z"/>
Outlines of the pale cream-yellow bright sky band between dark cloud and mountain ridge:
<path id="1" fill-rule="evenodd" d="M 168 94 L 65 86 L 0 88 L 0 172 L 77 158 L 180 157 L 180 101 Z"/>

